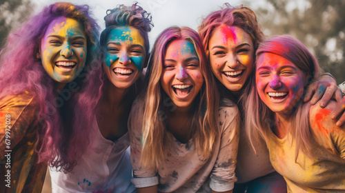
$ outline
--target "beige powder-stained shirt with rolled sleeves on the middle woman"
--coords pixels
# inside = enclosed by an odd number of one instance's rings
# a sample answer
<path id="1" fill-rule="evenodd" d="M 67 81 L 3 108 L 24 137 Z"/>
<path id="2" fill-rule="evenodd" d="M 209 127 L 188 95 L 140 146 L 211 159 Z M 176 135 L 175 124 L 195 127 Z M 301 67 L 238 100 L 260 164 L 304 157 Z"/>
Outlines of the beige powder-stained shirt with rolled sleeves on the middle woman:
<path id="1" fill-rule="evenodd" d="M 233 104 L 233 103 L 232 103 Z M 239 143 L 239 111 L 235 104 L 219 108 L 219 133 L 214 150 L 206 159 L 195 150 L 193 140 L 180 143 L 168 132 L 172 143 L 166 150 L 166 160 L 156 170 L 141 167 L 141 136 L 143 101 L 135 101 L 130 118 L 132 183 L 135 187 L 158 184 L 159 192 L 225 192 L 232 190 L 237 180 L 235 165 Z"/>

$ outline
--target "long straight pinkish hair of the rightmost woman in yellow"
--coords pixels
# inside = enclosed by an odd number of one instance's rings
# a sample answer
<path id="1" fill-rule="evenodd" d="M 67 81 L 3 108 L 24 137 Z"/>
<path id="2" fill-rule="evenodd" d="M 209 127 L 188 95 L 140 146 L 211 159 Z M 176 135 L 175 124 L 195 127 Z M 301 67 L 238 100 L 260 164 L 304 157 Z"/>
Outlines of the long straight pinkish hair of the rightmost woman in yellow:
<path id="1" fill-rule="evenodd" d="M 261 43 L 256 52 L 257 58 L 263 53 L 277 54 L 295 64 L 297 68 L 304 72 L 304 79 L 306 79 L 307 85 L 324 72 L 306 46 L 288 35 L 277 36 Z M 250 143 L 252 145 L 255 144 L 253 141 L 258 139 L 258 136 L 262 136 L 266 142 L 275 140 L 271 131 L 271 128 L 275 127 L 275 113 L 259 98 L 255 81 L 252 82 L 250 88 L 251 90 L 246 103 L 247 111 L 245 120 L 245 127 L 250 128 Z M 306 87 L 304 88 L 305 91 Z M 290 119 L 290 133 L 292 139 L 296 141 L 295 159 L 297 159 L 299 150 L 302 150 L 304 154 L 308 155 L 313 148 L 311 144 L 313 140 L 311 136 L 311 125 L 309 123 L 311 104 L 303 103 L 302 98 L 296 103 L 291 114 L 292 118 Z"/>

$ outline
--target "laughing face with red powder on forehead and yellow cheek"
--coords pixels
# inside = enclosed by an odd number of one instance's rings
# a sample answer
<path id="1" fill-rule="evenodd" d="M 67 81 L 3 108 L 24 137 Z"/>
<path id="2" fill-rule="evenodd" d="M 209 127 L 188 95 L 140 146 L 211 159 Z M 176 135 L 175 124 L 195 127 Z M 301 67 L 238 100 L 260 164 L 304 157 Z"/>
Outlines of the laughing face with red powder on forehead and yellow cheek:
<path id="1" fill-rule="evenodd" d="M 241 90 L 253 69 L 254 46 L 242 28 L 221 25 L 208 43 L 215 77 L 231 91 Z"/>

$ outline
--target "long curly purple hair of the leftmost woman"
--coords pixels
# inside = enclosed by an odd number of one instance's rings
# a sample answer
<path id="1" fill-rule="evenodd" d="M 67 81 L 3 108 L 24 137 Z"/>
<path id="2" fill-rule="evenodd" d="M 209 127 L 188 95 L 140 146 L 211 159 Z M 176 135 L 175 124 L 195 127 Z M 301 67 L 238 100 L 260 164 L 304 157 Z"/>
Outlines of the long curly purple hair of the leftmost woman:
<path id="1" fill-rule="evenodd" d="M 57 95 L 59 91 L 55 90 L 54 81 L 43 69 L 41 59 L 37 59 L 41 39 L 49 24 L 57 17 L 72 18 L 83 25 L 88 49 L 85 68 L 75 81 L 66 85 L 60 95 Z M 12 31 L 1 51 L 0 99 L 26 90 L 36 94 L 39 129 L 35 148 L 39 154 L 39 162 L 49 163 L 62 171 L 72 170 L 77 163 L 77 155 L 82 152 L 82 145 L 86 143 L 83 130 L 88 125 L 87 122 L 79 122 L 84 112 L 79 112 L 78 116 L 70 112 L 71 103 L 77 95 L 75 93 L 83 88 L 86 80 L 92 79 L 89 72 L 97 54 L 98 29 L 96 21 L 90 17 L 88 6 L 55 3 L 43 8 L 19 29 Z M 84 99 L 93 97 L 92 92 L 95 90 L 90 91 L 89 96 L 83 96 Z M 91 107 L 92 104 L 88 103 L 84 109 Z"/>

